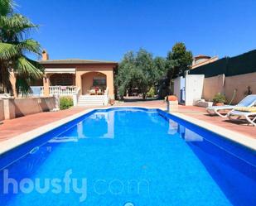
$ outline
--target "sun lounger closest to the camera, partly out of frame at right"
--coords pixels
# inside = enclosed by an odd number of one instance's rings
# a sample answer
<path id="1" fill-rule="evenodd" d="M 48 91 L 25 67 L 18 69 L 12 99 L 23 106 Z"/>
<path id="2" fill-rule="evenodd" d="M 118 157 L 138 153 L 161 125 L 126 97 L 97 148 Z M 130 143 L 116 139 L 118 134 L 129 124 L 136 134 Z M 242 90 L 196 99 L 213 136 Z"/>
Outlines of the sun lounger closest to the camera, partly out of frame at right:
<path id="1" fill-rule="evenodd" d="M 228 118 L 232 121 L 247 122 L 249 124 L 251 123 L 252 125 L 256 126 L 256 107 L 235 108 L 234 110 L 228 113 Z"/>

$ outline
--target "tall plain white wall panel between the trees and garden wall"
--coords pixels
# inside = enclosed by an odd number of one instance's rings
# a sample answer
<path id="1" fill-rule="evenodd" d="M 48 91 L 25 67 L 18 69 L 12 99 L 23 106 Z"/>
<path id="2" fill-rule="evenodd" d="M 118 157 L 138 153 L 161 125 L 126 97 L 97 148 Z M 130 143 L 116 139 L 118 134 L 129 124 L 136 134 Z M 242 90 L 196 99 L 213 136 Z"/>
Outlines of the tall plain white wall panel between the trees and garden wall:
<path id="1" fill-rule="evenodd" d="M 194 105 L 202 98 L 204 87 L 204 74 L 188 74 L 185 78 L 185 105 Z"/>

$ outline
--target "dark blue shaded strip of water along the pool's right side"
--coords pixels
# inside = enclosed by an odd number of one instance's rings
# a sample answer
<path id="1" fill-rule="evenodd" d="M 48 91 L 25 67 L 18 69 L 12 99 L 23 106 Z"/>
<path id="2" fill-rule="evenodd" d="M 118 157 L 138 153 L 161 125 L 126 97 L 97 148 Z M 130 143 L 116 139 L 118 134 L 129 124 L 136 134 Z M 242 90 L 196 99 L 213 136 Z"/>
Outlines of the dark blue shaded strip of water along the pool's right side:
<path id="1" fill-rule="evenodd" d="M 242 158 L 237 158 L 230 149 L 232 144 L 220 146 L 219 141 L 222 139 L 216 138 L 214 134 L 207 133 L 207 136 L 202 136 L 196 127 L 189 129 L 171 119 L 168 120 L 168 126 L 168 134 L 178 134 L 186 141 L 187 146 L 205 166 L 230 203 L 255 205 L 255 192 L 248 190 L 255 187 L 255 168 Z"/>

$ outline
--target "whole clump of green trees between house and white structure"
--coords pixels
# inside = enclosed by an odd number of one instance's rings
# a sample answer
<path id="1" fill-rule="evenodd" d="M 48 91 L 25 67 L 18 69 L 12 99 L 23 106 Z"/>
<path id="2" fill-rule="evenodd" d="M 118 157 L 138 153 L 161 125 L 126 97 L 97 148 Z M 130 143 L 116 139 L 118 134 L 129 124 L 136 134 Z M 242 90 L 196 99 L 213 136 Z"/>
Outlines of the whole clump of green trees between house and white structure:
<path id="1" fill-rule="evenodd" d="M 190 69 L 192 60 L 192 53 L 186 50 L 184 43 L 176 43 L 166 58 L 153 58 L 151 53 L 143 49 L 136 54 L 129 51 L 119 63 L 115 76 L 118 94 L 123 97 L 128 89 L 137 88 L 145 98 L 147 92 L 154 90 L 152 87 L 157 85 L 158 97 L 162 98 L 170 93 L 171 79 Z"/>

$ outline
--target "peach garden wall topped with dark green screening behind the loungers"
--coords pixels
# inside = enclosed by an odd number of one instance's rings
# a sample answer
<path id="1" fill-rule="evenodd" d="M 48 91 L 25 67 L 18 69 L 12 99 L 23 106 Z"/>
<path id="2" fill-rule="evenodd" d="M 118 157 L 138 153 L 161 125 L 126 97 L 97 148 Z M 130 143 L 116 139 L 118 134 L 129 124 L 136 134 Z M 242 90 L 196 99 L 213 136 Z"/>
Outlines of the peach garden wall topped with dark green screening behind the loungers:
<path id="1" fill-rule="evenodd" d="M 196 69 L 189 74 L 205 74 L 202 98 L 212 100 L 216 93 L 225 93 L 228 102 L 239 103 L 244 98 L 248 87 L 256 93 L 256 50 L 242 55 L 225 57 Z"/>

